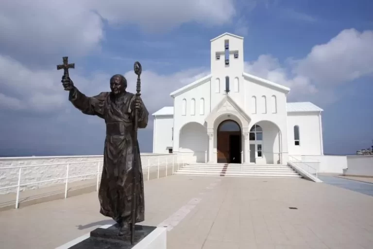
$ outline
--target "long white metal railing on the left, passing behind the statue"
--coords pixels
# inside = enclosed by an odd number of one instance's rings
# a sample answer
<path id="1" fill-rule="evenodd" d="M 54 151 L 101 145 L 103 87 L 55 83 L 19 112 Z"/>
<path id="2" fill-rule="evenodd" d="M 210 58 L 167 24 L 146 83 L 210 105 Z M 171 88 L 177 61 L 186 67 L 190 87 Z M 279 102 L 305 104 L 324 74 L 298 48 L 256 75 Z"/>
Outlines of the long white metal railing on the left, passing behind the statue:
<path id="1" fill-rule="evenodd" d="M 176 157 L 176 161 L 175 161 L 175 157 Z M 163 160 L 164 158 L 165 158 L 165 160 Z M 178 167 L 177 170 L 180 169 L 180 164 L 182 164 L 184 166 L 184 164 L 186 163 L 185 156 L 183 154 L 170 154 L 170 155 L 167 155 L 167 156 L 148 157 L 147 158 L 148 164 L 142 166 L 143 168 L 146 168 L 146 167 L 148 168 L 148 172 L 147 172 L 148 173 L 148 176 L 147 176 L 148 180 L 149 180 L 149 176 L 150 176 L 150 168 L 152 166 L 157 166 L 157 171 L 158 171 L 157 178 L 159 178 L 159 170 L 162 166 L 165 165 L 166 166 L 166 177 L 168 176 L 168 165 L 169 165 L 169 163 L 171 163 L 171 161 L 169 162 L 169 158 L 172 158 L 172 175 L 174 174 L 174 164 L 175 163 L 177 163 L 177 167 Z M 151 162 L 151 159 L 156 159 L 157 162 Z M 45 164 L 33 164 L 33 165 L 18 165 L 18 166 L 13 166 L 13 167 L 0 167 L 0 170 L 3 170 L 3 169 L 19 169 L 18 170 L 17 185 L 1 187 L 0 190 L 17 188 L 16 209 L 19 208 L 19 192 L 20 192 L 20 187 L 21 186 L 28 186 L 28 185 L 45 183 L 45 182 L 65 180 L 65 198 L 67 198 L 68 197 L 68 179 L 97 175 L 96 191 L 98 191 L 99 190 L 99 182 L 100 182 L 100 164 L 101 164 L 101 162 L 103 162 L 103 160 L 73 161 L 73 162 L 45 163 Z M 76 163 L 97 163 L 97 172 L 90 173 L 90 174 L 83 174 L 83 175 L 79 175 L 79 176 L 69 176 L 68 173 L 69 173 L 70 164 L 76 164 Z M 48 179 L 48 180 L 43 180 L 43 181 L 35 181 L 35 182 L 29 182 L 29 183 L 21 183 L 22 168 L 55 166 L 55 165 L 66 165 L 66 177 Z M 92 166 L 92 165 L 83 165 L 83 166 Z"/>

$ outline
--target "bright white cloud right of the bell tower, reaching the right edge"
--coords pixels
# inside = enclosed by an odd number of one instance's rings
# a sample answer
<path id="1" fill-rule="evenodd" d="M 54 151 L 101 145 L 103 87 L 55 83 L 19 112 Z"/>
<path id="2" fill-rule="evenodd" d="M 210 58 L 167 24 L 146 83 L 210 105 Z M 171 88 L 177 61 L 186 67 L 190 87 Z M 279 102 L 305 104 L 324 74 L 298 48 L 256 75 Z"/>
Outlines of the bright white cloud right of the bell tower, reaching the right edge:
<path id="1" fill-rule="evenodd" d="M 334 101 L 333 89 L 373 74 L 373 31 L 343 30 L 329 42 L 316 45 L 304 58 L 288 59 L 281 65 L 277 58 L 263 54 L 245 64 L 245 71 L 288 86 L 290 99 L 317 97 Z"/>

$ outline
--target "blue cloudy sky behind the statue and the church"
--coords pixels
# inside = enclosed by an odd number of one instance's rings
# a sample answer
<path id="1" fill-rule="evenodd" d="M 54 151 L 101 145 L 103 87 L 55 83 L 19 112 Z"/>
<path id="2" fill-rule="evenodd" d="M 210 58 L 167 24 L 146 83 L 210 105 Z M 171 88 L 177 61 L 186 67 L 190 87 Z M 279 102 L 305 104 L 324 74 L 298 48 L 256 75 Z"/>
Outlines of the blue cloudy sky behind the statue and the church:
<path id="1" fill-rule="evenodd" d="M 244 36 L 245 72 L 324 109 L 325 154 L 355 154 L 373 140 L 372 13 L 372 0 L 2 0 L 0 156 L 102 154 L 105 124 L 68 101 L 62 56 L 88 96 L 117 73 L 135 91 L 140 61 L 153 113 L 209 73 L 210 39 L 225 32 Z M 138 140 L 152 152 L 153 117 Z"/>

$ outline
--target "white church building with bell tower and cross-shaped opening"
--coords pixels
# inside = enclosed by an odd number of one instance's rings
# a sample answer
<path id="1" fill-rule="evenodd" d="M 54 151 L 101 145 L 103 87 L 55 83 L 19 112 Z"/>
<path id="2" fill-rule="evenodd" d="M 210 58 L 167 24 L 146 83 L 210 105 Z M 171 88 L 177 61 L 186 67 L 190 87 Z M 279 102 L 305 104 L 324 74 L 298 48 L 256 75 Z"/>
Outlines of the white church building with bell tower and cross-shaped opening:
<path id="1" fill-rule="evenodd" d="M 243 37 L 211 41 L 211 73 L 173 91 L 173 107 L 153 113 L 153 153 L 197 162 L 286 164 L 320 156 L 322 109 L 288 103 L 289 88 L 244 71 Z"/>

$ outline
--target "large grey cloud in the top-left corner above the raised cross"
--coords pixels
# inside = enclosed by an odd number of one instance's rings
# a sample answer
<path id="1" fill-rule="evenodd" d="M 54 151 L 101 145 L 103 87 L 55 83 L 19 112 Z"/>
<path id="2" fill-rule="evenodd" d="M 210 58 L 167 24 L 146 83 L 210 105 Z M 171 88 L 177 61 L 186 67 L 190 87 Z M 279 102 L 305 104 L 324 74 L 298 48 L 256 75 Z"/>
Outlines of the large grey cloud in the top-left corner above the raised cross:
<path id="1" fill-rule="evenodd" d="M 20 53 L 82 54 L 103 37 L 102 20 L 82 1 L 3 0 L 0 45 Z"/>

